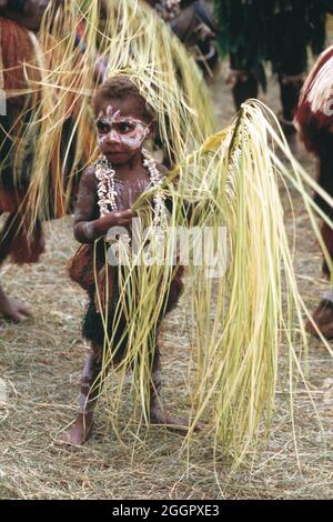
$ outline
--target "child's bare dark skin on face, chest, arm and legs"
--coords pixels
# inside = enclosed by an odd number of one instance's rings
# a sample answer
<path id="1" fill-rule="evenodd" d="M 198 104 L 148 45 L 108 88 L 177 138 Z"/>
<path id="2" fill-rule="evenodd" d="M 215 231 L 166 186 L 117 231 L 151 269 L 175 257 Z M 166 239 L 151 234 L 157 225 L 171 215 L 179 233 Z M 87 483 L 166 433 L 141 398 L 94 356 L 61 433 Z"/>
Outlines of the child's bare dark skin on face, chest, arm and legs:
<path id="1" fill-rule="evenodd" d="M 114 112 L 120 111 L 121 119 L 141 119 L 144 126 L 149 128 L 150 137 L 153 132 L 153 126 L 144 121 L 141 114 L 141 107 L 134 97 L 128 97 L 124 100 L 107 100 L 101 102 L 97 108 L 97 116 L 107 112 L 107 108 L 112 104 Z M 119 123 L 120 124 L 120 123 Z M 125 126 L 123 131 L 114 124 L 115 130 L 121 134 L 127 134 Z M 105 130 L 105 132 L 108 129 Z M 105 134 L 104 132 L 104 134 Z M 100 133 L 100 132 L 99 132 Z M 115 183 L 117 183 L 117 203 L 120 210 L 110 212 L 105 217 L 97 218 L 97 187 L 94 169 L 90 168 L 82 177 L 79 190 L 79 199 L 74 219 L 74 237 L 81 243 L 91 243 L 95 239 L 108 233 L 111 227 L 128 227 L 131 224 L 135 213 L 131 210 L 134 201 L 145 190 L 150 179 L 147 169 L 143 167 L 142 144 L 133 150 L 121 145 L 120 140 L 111 134 L 102 142 L 100 141 L 100 150 L 114 165 Z M 158 165 L 161 172 L 167 169 Z M 92 384 L 99 378 L 101 368 L 101 350 L 99 347 L 92 347 L 90 355 L 85 361 L 82 380 L 81 380 L 81 400 L 80 413 L 78 414 L 72 426 L 65 431 L 61 439 L 61 443 L 80 445 L 87 441 L 93 424 L 93 412 L 97 403 L 97 395 L 92 389 Z M 153 424 L 165 424 L 173 430 L 178 430 L 185 434 L 188 432 L 189 422 L 184 419 L 175 418 L 168 414 L 161 405 L 159 392 L 161 382 L 158 369 L 152 373 L 152 390 L 150 399 L 150 420 Z M 89 398 L 89 404 L 87 403 Z M 196 431 L 201 428 L 198 425 Z"/>

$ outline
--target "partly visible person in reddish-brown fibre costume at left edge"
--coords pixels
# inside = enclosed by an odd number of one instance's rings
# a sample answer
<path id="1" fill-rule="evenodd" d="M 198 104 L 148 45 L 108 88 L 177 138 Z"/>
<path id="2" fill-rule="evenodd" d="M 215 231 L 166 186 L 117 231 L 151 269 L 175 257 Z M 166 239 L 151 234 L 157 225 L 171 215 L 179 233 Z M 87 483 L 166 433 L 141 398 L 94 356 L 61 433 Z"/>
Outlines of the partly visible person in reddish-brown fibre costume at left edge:
<path id="1" fill-rule="evenodd" d="M 30 228 L 31 213 L 27 211 L 24 195 L 33 162 L 31 147 L 20 150 L 18 140 L 24 134 L 31 119 L 33 94 L 28 90 L 26 64 L 31 66 L 31 80 L 40 78 L 32 69 L 37 66 L 39 43 L 33 31 L 41 23 L 46 4 L 38 1 L 8 1 L 0 8 L 0 214 L 9 213 L 0 232 L 0 263 L 11 254 L 18 263 L 34 262 L 43 251 L 40 220 Z M 19 180 L 14 163 L 21 155 Z M 17 157 L 17 159 L 16 159 Z M 20 321 L 29 315 L 27 309 L 10 300 L 0 288 L 0 311 Z"/>

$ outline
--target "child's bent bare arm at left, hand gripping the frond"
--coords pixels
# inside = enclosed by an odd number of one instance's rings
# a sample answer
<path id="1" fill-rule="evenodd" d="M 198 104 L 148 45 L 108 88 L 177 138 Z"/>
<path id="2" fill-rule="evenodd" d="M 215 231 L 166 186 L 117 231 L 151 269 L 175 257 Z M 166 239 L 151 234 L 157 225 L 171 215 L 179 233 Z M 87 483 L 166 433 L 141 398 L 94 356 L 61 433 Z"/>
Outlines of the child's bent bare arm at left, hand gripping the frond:
<path id="1" fill-rule="evenodd" d="M 74 217 L 74 238 L 79 243 L 93 243 L 105 235 L 112 227 L 131 224 L 137 215 L 132 210 L 113 211 L 103 218 L 94 219 L 98 205 L 98 182 L 94 169 L 89 168 L 83 173 Z"/>

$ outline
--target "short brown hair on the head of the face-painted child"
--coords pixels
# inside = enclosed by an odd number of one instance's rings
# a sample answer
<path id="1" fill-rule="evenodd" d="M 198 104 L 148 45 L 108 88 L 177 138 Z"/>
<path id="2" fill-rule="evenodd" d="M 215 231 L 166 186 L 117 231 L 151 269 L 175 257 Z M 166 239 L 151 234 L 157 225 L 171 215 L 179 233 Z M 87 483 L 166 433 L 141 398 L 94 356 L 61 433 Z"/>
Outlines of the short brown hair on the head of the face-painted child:
<path id="1" fill-rule="evenodd" d="M 138 87 L 125 76 L 110 78 L 98 88 L 93 98 L 94 113 L 98 114 L 101 101 L 125 98 L 135 98 L 140 116 L 144 121 L 150 123 L 154 119 L 153 109 L 140 94 Z"/>

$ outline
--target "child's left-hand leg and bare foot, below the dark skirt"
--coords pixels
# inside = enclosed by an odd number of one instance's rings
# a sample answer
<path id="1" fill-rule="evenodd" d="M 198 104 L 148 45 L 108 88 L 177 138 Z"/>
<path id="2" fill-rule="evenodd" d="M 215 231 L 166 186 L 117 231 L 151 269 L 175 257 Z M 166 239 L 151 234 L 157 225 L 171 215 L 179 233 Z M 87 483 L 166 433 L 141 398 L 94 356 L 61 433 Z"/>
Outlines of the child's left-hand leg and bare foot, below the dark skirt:
<path id="1" fill-rule="evenodd" d="M 90 435 L 101 388 L 102 353 L 101 347 L 92 345 L 82 371 L 79 413 L 74 424 L 60 438 L 60 442 L 79 445 Z"/>

